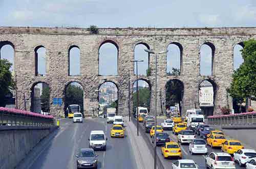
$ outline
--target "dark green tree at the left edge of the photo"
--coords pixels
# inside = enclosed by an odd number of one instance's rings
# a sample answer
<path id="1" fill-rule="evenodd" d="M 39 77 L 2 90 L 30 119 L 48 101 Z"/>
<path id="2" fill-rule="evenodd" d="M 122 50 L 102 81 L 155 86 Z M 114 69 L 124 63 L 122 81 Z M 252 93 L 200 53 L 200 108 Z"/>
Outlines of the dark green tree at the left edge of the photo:
<path id="1" fill-rule="evenodd" d="M 14 89 L 15 82 L 12 79 L 12 73 L 10 71 L 10 63 L 6 59 L 0 59 L 0 107 L 5 107 L 5 96 L 10 89 Z"/>

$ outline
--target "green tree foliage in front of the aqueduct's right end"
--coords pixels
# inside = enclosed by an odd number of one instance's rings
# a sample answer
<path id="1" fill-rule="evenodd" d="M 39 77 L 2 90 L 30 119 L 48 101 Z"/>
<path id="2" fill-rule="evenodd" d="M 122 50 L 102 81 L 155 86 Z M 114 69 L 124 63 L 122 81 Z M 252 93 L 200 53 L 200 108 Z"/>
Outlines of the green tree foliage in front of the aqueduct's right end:
<path id="1" fill-rule="evenodd" d="M 244 62 L 234 71 L 229 94 L 241 103 L 245 98 L 256 95 L 256 40 L 244 41 Z"/>

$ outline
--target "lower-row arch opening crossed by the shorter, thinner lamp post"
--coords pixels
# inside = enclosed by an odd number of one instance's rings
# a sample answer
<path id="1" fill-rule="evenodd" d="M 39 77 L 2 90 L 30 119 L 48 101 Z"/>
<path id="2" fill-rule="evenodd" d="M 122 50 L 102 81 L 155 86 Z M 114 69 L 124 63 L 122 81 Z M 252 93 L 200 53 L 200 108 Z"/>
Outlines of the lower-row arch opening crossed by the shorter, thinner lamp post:
<path id="1" fill-rule="evenodd" d="M 137 92 L 137 82 L 138 82 L 138 92 Z M 133 82 L 133 113 L 135 115 L 137 109 L 137 103 L 139 107 L 147 108 L 147 111 L 150 112 L 151 104 L 151 85 L 149 82 L 139 79 L 138 81 Z M 137 96 L 139 96 L 139 102 L 137 102 Z"/>

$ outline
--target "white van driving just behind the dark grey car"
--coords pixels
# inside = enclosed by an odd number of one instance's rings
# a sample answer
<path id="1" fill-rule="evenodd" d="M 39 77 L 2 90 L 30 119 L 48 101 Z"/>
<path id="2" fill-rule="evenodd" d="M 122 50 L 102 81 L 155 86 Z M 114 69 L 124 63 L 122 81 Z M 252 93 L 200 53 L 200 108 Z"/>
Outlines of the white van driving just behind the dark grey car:
<path id="1" fill-rule="evenodd" d="M 88 140 L 90 141 L 90 148 L 94 150 L 106 150 L 106 140 L 108 140 L 108 138 L 106 138 L 103 131 L 91 131 L 90 138 Z"/>

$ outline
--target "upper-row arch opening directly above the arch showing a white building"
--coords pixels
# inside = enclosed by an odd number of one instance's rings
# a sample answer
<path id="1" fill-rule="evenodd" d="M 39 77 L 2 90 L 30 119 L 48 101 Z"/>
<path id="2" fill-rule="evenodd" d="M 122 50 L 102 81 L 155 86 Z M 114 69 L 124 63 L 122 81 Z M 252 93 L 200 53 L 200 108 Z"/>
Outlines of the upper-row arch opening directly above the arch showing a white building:
<path id="1" fill-rule="evenodd" d="M 210 64 L 209 65 L 207 65 L 207 66 L 211 66 L 211 68 L 210 68 L 210 73 L 208 73 L 208 74 L 203 74 L 202 73 L 202 71 L 203 71 L 203 68 L 202 68 L 202 62 L 204 61 L 203 59 L 202 59 L 202 49 L 203 49 L 203 47 L 204 47 L 204 45 L 207 45 L 208 47 L 209 47 L 209 49 L 211 50 L 211 52 L 210 52 Z M 215 47 L 215 45 L 213 44 L 213 43 L 211 43 L 211 42 L 204 42 L 201 46 L 200 46 L 200 52 L 199 52 L 199 54 L 200 54 L 200 76 L 212 76 L 212 75 L 214 75 L 214 69 L 215 69 L 215 65 L 214 65 L 214 58 L 215 58 L 215 51 L 216 51 L 216 47 Z M 207 49 L 205 49 L 205 50 L 207 50 Z M 204 54 L 204 51 L 203 51 L 203 54 Z M 207 53 L 206 53 L 207 54 Z M 204 56 L 205 57 L 205 56 Z M 206 61 L 207 62 L 207 61 Z"/>

